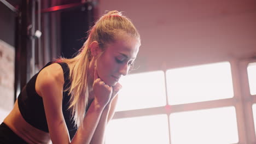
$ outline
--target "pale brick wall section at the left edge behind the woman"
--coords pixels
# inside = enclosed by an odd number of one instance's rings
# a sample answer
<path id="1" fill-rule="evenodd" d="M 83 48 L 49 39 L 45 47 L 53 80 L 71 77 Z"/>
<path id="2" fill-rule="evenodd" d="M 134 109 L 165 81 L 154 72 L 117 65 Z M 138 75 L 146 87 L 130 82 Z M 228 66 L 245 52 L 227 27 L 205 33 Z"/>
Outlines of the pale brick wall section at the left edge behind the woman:
<path id="1" fill-rule="evenodd" d="M 14 47 L 0 40 L 0 122 L 14 104 Z"/>

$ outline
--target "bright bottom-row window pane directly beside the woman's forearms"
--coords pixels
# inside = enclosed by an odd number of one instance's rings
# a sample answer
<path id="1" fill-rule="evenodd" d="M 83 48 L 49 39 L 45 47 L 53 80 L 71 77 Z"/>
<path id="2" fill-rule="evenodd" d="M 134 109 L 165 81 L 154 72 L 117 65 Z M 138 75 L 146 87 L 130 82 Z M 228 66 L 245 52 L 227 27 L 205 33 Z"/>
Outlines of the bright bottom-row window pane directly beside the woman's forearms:
<path id="1" fill-rule="evenodd" d="M 107 144 L 167 144 L 167 115 L 113 119 L 107 128 Z"/>

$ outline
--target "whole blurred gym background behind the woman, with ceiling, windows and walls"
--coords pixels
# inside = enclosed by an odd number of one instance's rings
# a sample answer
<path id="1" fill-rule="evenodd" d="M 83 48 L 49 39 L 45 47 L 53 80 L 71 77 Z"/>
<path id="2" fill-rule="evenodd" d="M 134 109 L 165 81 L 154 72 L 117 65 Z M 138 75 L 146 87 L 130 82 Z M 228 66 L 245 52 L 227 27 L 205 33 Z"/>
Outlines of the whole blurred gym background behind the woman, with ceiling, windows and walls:
<path id="1" fill-rule="evenodd" d="M 106 143 L 256 143 L 256 1 L 0 0 L 0 122 L 106 10 L 141 34 Z"/>

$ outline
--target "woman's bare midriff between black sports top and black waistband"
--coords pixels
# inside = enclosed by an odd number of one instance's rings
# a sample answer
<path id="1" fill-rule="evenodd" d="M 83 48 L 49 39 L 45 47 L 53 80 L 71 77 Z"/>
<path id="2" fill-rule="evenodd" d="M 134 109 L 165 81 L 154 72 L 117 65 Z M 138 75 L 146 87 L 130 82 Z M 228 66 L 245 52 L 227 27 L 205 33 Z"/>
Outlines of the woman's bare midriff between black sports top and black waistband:
<path id="1" fill-rule="evenodd" d="M 21 116 L 17 100 L 4 123 L 27 143 L 50 143 L 49 133 L 33 127 Z"/>

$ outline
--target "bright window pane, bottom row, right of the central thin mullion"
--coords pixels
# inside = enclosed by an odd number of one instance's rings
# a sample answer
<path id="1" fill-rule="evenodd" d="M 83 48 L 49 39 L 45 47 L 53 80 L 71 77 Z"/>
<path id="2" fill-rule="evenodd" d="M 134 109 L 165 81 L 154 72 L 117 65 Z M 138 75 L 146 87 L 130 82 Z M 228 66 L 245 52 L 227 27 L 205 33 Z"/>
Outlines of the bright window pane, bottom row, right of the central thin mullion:
<path id="1" fill-rule="evenodd" d="M 170 115 L 171 143 L 237 143 L 235 107 Z"/>

